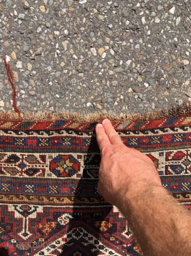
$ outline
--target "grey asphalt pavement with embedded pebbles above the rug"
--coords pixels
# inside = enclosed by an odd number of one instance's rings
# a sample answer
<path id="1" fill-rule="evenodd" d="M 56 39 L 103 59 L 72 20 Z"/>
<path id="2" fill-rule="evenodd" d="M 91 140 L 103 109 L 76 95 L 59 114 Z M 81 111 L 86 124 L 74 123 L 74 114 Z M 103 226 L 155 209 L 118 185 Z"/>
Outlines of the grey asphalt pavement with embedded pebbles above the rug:
<path id="1" fill-rule="evenodd" d="M 146 113 L 191 100 L 190 0 L 0 0 L 0 110 Z"/>

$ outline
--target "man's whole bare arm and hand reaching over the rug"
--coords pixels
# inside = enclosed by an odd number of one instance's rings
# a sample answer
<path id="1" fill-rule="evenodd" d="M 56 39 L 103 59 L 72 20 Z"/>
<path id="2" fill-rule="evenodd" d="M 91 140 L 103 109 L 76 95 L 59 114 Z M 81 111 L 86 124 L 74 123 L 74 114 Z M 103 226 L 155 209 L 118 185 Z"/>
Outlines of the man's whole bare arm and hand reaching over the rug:
<path id="1" fill-rule="evenodd" d="M 96 135 L 98 192 L 125 216 L 143 255 L 191 255 L 189 211 L 162 188 L 152 160 L 125 146 L 108 119 L 96 126 Z"/>

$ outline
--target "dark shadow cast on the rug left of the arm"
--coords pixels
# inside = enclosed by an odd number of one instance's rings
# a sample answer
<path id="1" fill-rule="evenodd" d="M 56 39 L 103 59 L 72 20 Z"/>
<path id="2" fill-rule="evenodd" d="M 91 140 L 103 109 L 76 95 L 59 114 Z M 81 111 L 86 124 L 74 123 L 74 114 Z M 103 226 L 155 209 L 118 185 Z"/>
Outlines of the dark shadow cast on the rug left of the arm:
<path id="1" fill-rule="evenodd" d="M 104 220 L 112 210 L 97 192 L 98 170 L 100 165 L 100 151 L 96 142 L 96 135 L 91 137 L 90 146 L 84 158 L 84 170 L 75 189 L 67 234 L 60 256 L 97 256 L 106 247 L 103 238 L 109 225 Z M 109 233 L 108 233 L 109 234 Z M 106 236 L 108 236 L 106 234 Z"/>

